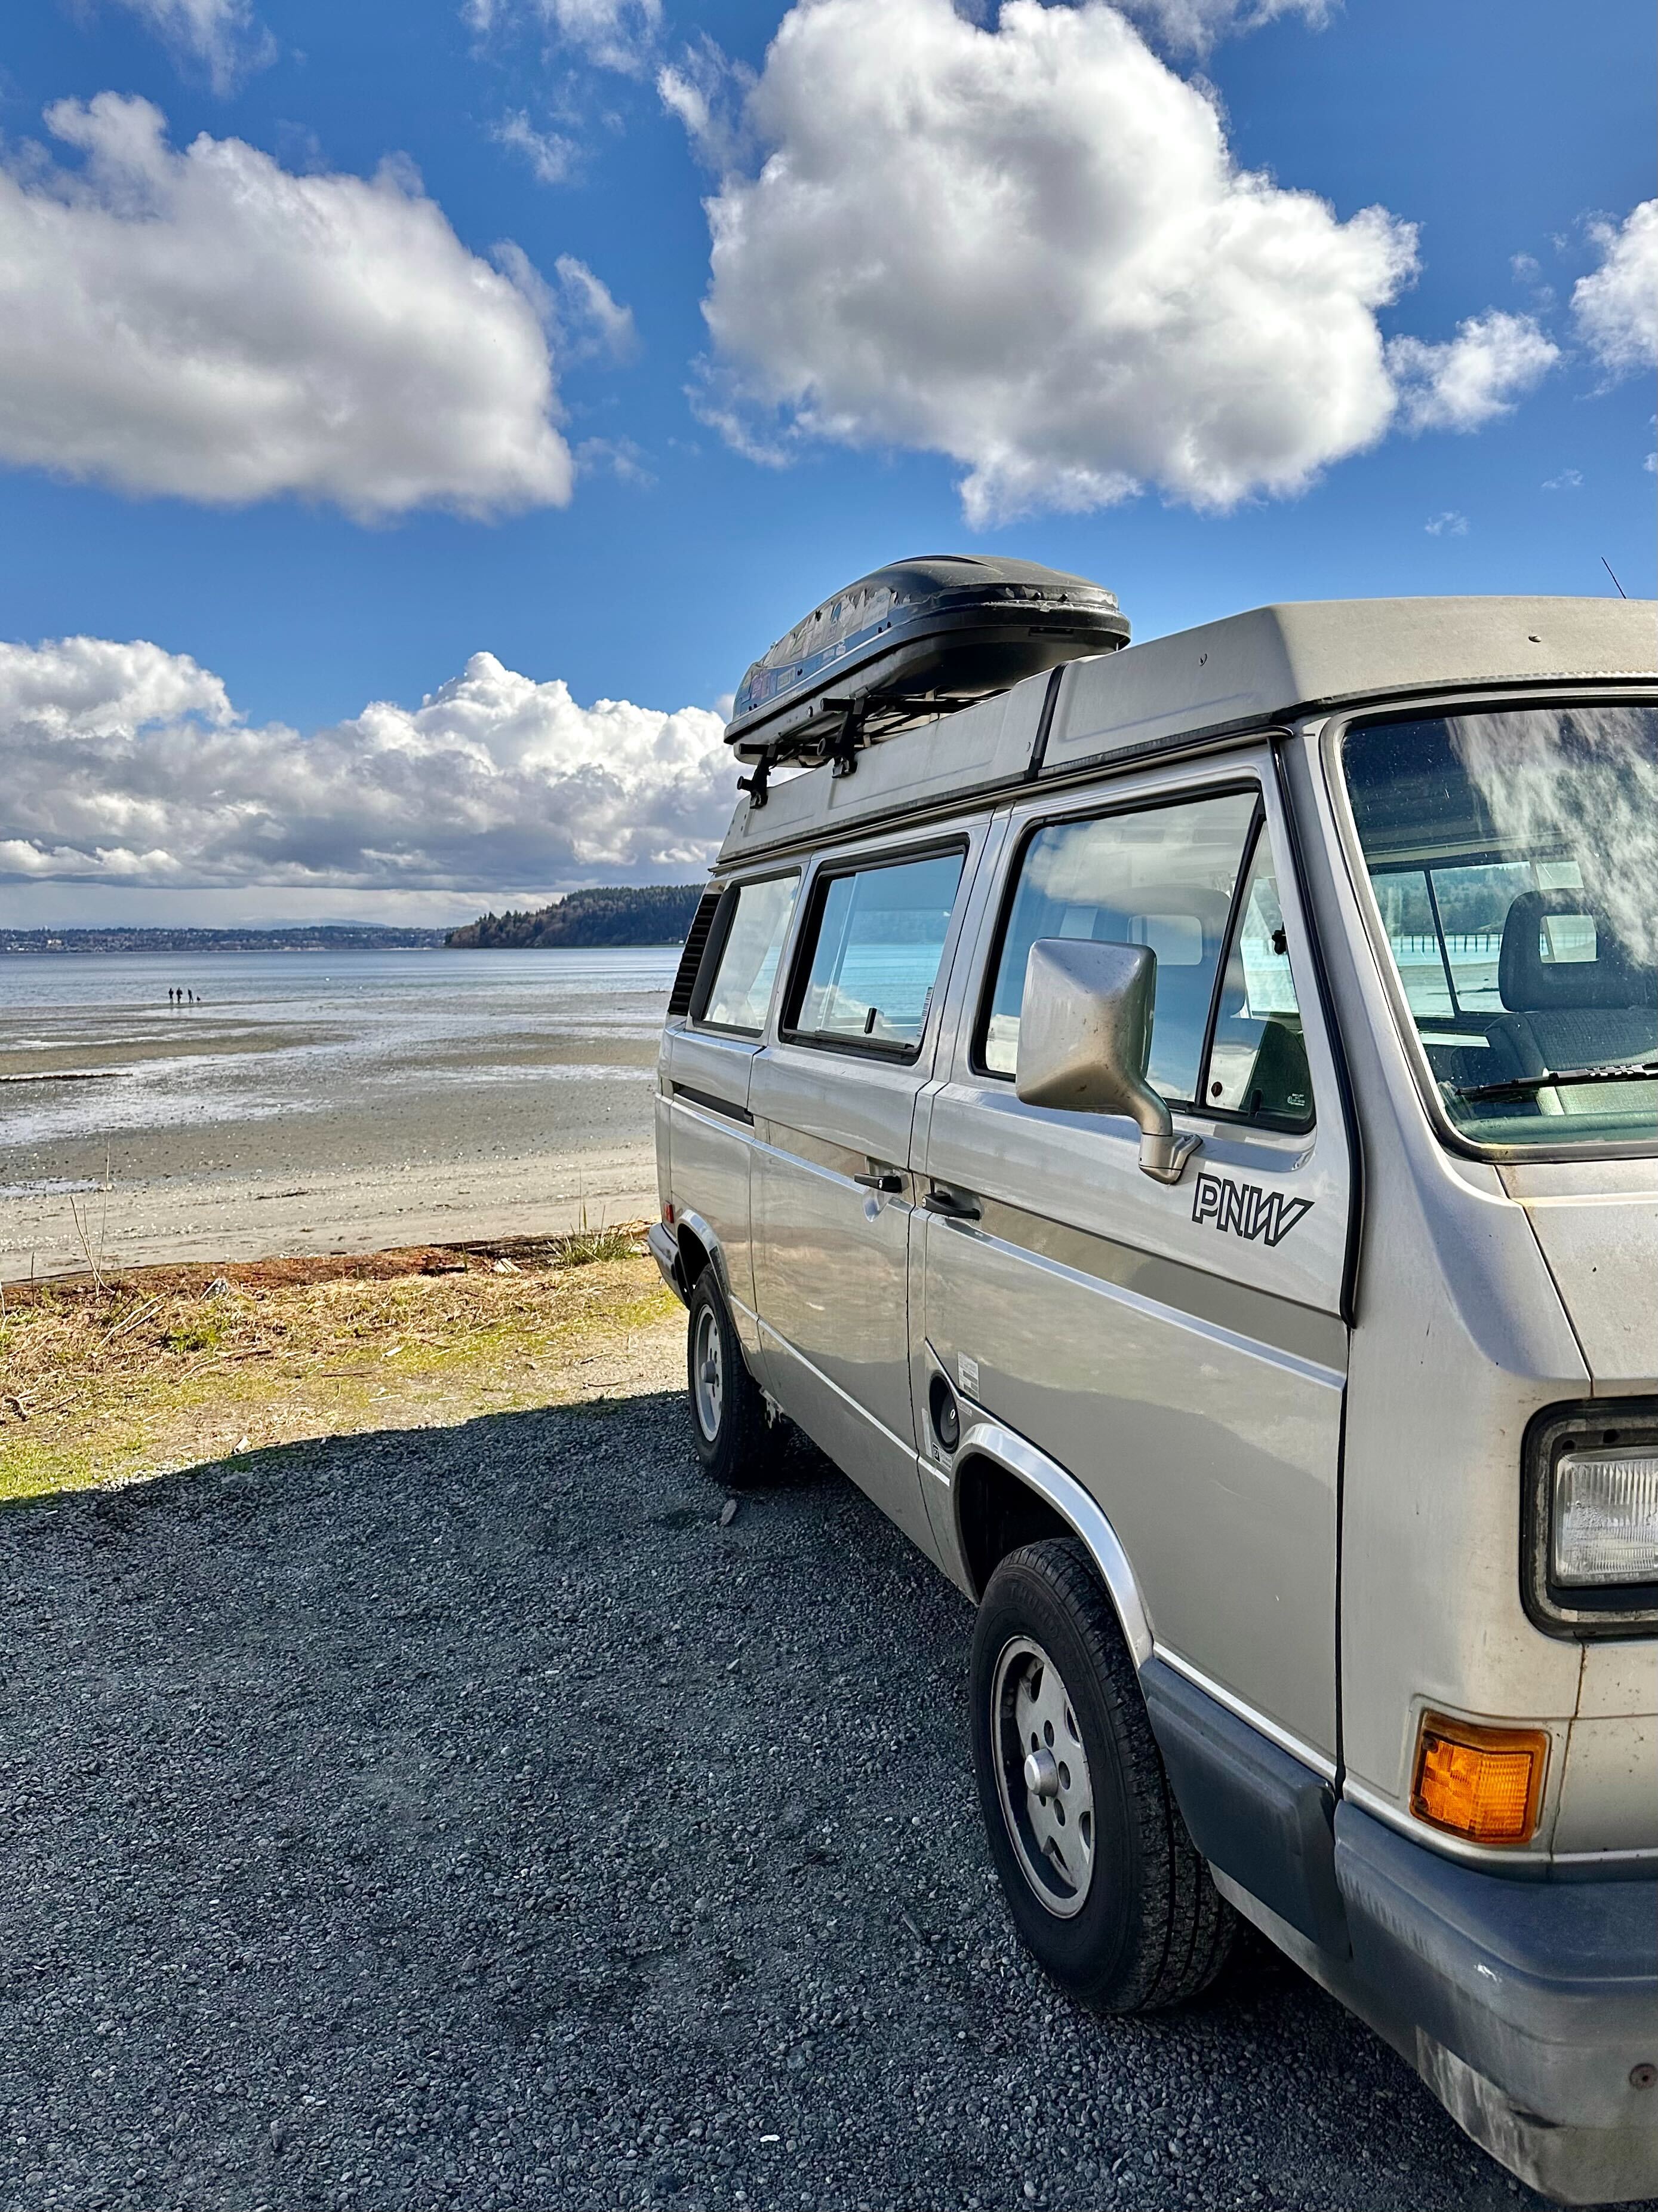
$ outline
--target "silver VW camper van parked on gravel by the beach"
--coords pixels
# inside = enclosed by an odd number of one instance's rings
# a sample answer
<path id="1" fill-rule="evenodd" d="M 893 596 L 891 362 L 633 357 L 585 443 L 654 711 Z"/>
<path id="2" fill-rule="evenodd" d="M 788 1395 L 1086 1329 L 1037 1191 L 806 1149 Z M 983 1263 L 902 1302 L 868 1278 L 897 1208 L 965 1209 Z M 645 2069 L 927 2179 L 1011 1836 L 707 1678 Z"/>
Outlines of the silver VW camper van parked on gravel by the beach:
<path id="1" fill-rule="evenodd" d="M 787 1416 L 977 1604 L 1083 2004 L 1245 1918 L 1658 2194 L 1654 606 L 1090 619 L 909 726 L 831 659 L 787 779 L 749 717 L 657 1097 L 701 1460 Z"/>

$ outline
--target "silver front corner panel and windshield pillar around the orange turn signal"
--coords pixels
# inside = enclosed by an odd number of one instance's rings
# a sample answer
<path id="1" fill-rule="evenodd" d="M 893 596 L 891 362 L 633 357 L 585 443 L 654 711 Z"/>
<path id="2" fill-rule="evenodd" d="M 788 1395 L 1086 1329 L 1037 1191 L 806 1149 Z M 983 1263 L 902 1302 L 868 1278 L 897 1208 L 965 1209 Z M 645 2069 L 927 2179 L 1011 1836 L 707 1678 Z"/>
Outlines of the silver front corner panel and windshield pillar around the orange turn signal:
<path id="1" fill-rule="evenodd" d="M 1581 1650 L 1539 1635 L 1521 1604 L 1521 1442 L 1543 1405 L 1585 1396 L 1587 1371 L 1525 1212 L 1497 1168 L 1452 1155 L 1428 1124 L 1340 860 L 1315 728 L 1287 748 L 1287 770 L 1366 1175 L 1342 1493 L 1342 1752 L 1360 1801 L 1408 1820 L 1424 1705 L 1552 1723 L 1556 1754 L 1565 1747 Z M 1561 1763 L 1550 1761 L 1536 1854 Z"/>

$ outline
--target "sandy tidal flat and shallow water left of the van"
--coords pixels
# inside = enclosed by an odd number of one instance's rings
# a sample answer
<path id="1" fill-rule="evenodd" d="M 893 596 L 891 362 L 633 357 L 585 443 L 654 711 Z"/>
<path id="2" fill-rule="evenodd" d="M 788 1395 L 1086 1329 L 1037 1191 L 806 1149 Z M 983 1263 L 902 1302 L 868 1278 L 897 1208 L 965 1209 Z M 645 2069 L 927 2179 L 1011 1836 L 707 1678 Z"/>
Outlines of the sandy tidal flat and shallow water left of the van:
<path id="1" fill-rule="evenodd" d="M 674 960 L 7 960 L 0 1281 L 652 1214 Z"/>

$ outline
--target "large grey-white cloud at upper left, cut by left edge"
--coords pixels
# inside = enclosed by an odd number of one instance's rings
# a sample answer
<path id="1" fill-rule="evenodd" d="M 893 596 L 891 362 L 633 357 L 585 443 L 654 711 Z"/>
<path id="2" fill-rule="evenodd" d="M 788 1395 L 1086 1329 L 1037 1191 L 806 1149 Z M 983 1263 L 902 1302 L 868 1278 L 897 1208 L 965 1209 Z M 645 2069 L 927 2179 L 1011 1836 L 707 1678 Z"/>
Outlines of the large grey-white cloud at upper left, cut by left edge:
<path id="1" fill-rule="evenodd" d="M 562 504 L 537 305 L 396 164 L 183 153 L 146 100 L 46 111 L 80 168 L 0 170 L 0 460 L 241 504 Z"/>

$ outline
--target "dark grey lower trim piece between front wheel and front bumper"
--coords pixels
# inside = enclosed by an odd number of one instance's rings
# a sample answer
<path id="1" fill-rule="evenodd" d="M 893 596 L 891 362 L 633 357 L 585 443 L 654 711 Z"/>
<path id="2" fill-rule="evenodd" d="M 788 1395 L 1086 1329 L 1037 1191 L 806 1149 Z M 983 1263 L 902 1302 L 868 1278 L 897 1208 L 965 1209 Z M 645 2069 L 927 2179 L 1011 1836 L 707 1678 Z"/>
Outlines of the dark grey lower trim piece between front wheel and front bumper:
<path id="1" fill-rule="evenodd" d="M 1141 1690 L 1174 1801 L 1209 1865 L 1320 1951 L 1346 1958 L 1324 1778 L 1156 1655 L 1141 1668 Z"/>

